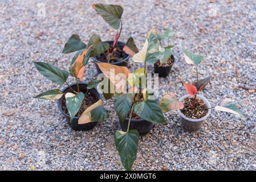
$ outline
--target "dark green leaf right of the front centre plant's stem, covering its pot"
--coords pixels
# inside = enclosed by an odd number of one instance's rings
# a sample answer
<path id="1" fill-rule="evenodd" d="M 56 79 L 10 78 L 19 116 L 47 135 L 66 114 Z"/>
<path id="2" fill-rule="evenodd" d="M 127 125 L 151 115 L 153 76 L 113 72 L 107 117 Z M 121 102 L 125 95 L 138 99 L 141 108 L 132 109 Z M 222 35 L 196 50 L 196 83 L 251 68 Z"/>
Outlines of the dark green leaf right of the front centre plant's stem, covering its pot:
<path id="1" fill-rule="evenodd" d="M 146 100 L 133 106 L 135 113 L 152 123 L 165 123 L 164 115 L 156 100 Z"/>

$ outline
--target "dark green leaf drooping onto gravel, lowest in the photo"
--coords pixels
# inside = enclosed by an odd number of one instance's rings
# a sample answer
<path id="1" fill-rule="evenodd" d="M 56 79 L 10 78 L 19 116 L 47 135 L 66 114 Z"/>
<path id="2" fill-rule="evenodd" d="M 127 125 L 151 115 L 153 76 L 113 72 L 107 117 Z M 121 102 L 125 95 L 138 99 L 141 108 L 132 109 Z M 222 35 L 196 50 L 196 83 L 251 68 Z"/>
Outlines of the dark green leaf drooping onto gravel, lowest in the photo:
<path id="1" fill-rule="evenodd" d="M 115 144 L 124 168 L 131 170 L 137 156 L 139 132 L 137 130 L 116 131 Z"/>

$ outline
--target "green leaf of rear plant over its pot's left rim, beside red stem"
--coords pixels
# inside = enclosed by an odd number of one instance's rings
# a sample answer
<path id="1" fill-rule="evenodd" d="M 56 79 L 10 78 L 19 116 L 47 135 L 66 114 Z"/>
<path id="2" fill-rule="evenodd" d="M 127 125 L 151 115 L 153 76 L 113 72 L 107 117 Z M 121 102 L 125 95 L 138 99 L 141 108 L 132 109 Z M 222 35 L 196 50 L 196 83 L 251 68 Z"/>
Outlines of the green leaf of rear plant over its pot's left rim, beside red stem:
<path id="1" fill-rule="evenodd" d="M 88 46 L 92 46 L 91 57 L 100 55 L 109 49 L 109 43 L 101 42 L 100 36 L 97 34 L 91 36 Z"/>

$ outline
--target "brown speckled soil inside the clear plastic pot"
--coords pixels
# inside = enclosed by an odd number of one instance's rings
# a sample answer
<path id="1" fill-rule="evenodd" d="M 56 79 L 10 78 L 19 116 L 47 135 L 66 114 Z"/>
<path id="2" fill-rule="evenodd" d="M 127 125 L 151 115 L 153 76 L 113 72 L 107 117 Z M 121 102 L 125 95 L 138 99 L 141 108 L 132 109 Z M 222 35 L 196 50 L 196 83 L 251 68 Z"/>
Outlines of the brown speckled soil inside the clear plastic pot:
<path id="1" fill-rule="evenodd" d="M 208 109 L 205 102 L 200 98 L 196 98 L 195 107 L 192 109 L 191 105 L 193 104 L 193 98 L 185 98 L 182 102 L 185 107 L 181 110 L 181 113 L 184 114 L 187 118 L 191 119 L 200 119 L 208 113 Z"/>

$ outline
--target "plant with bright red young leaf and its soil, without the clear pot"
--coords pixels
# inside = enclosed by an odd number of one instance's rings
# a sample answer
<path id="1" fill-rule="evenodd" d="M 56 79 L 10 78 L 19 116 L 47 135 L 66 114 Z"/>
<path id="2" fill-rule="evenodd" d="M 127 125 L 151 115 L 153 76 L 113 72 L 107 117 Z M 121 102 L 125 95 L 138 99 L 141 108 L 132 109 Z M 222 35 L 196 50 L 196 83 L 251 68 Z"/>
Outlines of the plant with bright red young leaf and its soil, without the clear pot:
<path id="1" fill-rule="evenodd" d="M 229 113 L 237 114 L 244 117 L 241 110 L 234 105 L 234 102 L 229 98 L 226 98 L 221 102 L 220 105 L 213 107 L 206 107 L 205 103 L 197 99 L 198 92 L 204 90 L 205 86 L 210 82 L 210 76 L 202 80 L 198 80 L 198 64 L 204 59 L 201 55 L 196 55 L 190 51 L 183 50 L 185 61 L 188 64 L 192 64 L 196 67 L 196 81 L 193 84 L 183 83 L 186 92 L 190 95 L 191 98 L 185 98 L 184 101 L 178 101 L 177 97 L 172 94 L 165 94 L 160 101 L 160 107 L 162 111 L 168 112 L 170 110 L 179 109 L 181 112 L 186 115 L 188 118 L 199 119 L 204 117 L 210 109 L 216 109 L 219 111 L 226 111 Z"/>

